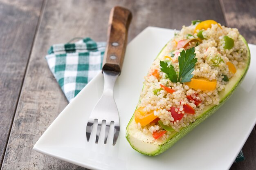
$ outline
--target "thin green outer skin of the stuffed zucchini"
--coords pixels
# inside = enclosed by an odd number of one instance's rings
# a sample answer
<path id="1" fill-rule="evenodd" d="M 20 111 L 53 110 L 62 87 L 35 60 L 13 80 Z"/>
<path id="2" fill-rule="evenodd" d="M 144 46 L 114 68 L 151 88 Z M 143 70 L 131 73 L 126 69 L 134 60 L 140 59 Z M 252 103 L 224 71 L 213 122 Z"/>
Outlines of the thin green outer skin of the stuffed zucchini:
<path id="1" fill-rule="evenodd" d="M 189 133 L 191 130 L 193 130 L 193 128 L 195 128 L 196 126 L 198 126 L 198 124 L 200 124 L 202 121 L 204 121 L 205 119 L 207 119 L 209 116 L 211 116 L 213 113 L 216 112 L 216 110 L 218 110 L 218 108 L 220 108 L 226 101 L 227 99 L 229 99 L 229 97 L 231 97 L 231 95 L 234 93 L 234 90 L 236 89 L 237 86 L 240 85 L 240 83 L 243 81 L 243 79 L 245 78 L 245 75 L 249 69 L 249 65 L 250 65 L 250 59 L 251 59 L 251 55 L 250 55 L 250 50 L 247 44 L 247 41 L 245 40 L 245 38 L 240 35 L 240 38 L 243 40 L 243 42 L 246 44 L 247 46 L 247 63 L 245 66 L 245 70 L 243 70 L 242 76 L 240 76 L 238 79 L 239 81 L 236 82 L 234 84 L 234 86 L 232 86 L 232 88 L 229 90 L 229 93 L 225 94 L 225 96 L 220 100 L 220 104 L 211 107 L 209 110 L 207 110 L 206 112 L 202 113 L 199 117 L 197 117 L 197 119 L 189 124 L 189 126 L 186 126 L 185 128 L 183 128 L 182 130 L 180 130 L 180 132 L 177 132 L 171 139 L 169 139 L 168 141 L 166 141 L 165 143 L 159 145 L 159 149 L 155 150 L 155 152 L 151 152 L 151 153 L 145 153 L 145 152 L 141 152 L 138 150 L 138 148 L 135 148 L 135 146 L 132 145 L 132 143 L 130 142 L 130 134 L 128 133 L 128 126 L 130 125 L 130 123 L 132 122 L 132 120 L 134 119 L 134 114 L 132 115 L 132 118 L 130 119 L 127 127 L 126 127 L 126 139 L 128 140 L 130 146 L 137 150 L 138 152 L 140 152 L 143 155 L 148 155 L 148 156 L 156 156 L 159 155 L 160 153 L 166 151 L 168 148 L 170 148 L 171 146 L 173 146 L 177 141 L 179 141 L 182 137 L 184 137 L 187 133 Z M 168 43 L 167 43 L 168 44 Z M 166 44 L 166 45 L 167 45 Z M 164 50 L 164 48 L 166 47 L 166 45 L 162 48 L 162 50 L 159 52 L 159 54 L 157 55 L 157 57 L 159 57 L 160 53 Z M 156 58 L 157 58 L 156 57 Z M 143 88 L 142 88 L 143 89 Z M 137 107 L 136 107 L 137 109 Z M 135 109 L 135 110 L 136 110 Z M 155 144 L 152 144 L 155 145 Z"/>

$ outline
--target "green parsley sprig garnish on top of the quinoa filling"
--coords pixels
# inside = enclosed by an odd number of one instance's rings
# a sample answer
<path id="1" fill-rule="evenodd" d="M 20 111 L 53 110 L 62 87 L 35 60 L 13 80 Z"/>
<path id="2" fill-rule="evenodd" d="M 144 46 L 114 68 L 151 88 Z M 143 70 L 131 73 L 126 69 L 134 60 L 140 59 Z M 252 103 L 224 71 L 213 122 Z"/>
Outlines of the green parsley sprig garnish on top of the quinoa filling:
<path id="1" fill-rule="evenodd" d="M 177 76 L 176 71 L 172 64 L 168 66 L 168 64 L 164 61 L 160 61 L 160 66 L 162 68 L 161 71 L 166 73 L 166 77 L 171 80 L 171 82 L 190 82 L 193 74 L 191 74 L 195 70 L 195 63 L 198 61 L 195 58 L 195 48 L 182 50 L 179 57 L 179 67 L 180 72 L 179 76 Z"/>

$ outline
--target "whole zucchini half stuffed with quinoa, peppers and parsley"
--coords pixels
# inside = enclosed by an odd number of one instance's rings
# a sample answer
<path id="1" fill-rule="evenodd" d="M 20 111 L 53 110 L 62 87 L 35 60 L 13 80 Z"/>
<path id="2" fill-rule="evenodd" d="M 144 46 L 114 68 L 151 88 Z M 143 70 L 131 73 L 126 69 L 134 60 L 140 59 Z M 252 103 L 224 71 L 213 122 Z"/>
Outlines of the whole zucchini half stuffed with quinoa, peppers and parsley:
<path id="1" fill-rule="evenodd" d="M 237 29 L 213 20 L 183 26 L 145 76 L 126 128 L 132 148 L 155 156 L 173 146 L 225 103 L 249 63 L 247 42 Z"/>

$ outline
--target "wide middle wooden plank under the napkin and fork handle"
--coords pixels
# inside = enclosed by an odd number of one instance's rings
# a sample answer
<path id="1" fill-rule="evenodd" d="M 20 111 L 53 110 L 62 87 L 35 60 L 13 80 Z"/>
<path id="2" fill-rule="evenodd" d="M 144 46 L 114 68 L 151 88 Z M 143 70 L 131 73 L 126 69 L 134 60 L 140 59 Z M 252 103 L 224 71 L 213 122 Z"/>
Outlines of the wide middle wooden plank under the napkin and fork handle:
<path id="1" fill-rule="evenodd" d="M 218 0 L 61 0 L 47 1 L 36 35 L 20 101 L 2 164 L 7 169 L 84 169 L 32 150 L 32 147 L 65 108 L 67 100 L 49 71 L 44 55 L 50 45 L 74 37 L 106 41 L 108 15 L 115 5 L 132 11 L 128 40 L 147 26 L 180 29 L 191 20 L 208 18 L 225 24 Z M 198 10 L 198 7 L 204 7 Z"/>

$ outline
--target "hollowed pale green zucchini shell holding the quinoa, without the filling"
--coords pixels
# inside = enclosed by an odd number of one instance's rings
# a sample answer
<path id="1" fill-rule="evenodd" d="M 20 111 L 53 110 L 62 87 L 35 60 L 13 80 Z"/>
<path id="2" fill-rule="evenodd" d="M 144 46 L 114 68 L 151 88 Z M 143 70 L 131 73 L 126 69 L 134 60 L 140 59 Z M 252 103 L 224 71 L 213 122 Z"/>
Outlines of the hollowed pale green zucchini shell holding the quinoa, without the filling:
<path id="1" fill-rule="evenodd" d="M 173 131 L 170 134 L 169 138 L 166 139 L 166 141 L 161 142 L 155 140 L 151 134 L 145 135 L 144 133 L 141 132 L 141 130 L 137 129 L 133 114 L 132 118 L 128 123 L 128 126 L 126 127 L 126 139 L 128 140 L 130 146 L 132 146 L 133 149 L 137 150 L 138 152 L 144 155 L 159 155 L 160 153 L 166 151 L 168 148 L 173 146 L 173 144 L 175 144 L 179 139 L 181 139 L 184 135 L 186 135 L 193 128 L 195 128 L 195 126 L 197 126 L 202 121 L 207 119 L 207 117 L 212 115 L 216 110 L 218 110 L 218 108 L 220 108 L 220 106 L 222 106 L 226 102 L 226 100 L 231 96 L 236 87 L 242 82 L 250 64 L 251 55 L 248 44 L 242 35 L 240 35 L 240 38 L 247 46 L 247 63 L 244 68 L 237 69 L 236 74 L 233 77 L 231 77 L 229 79 L 229 83 L 226 84 L 225 90 L 219 93 L 220 104 L 209 105 L 204 107 L 201 114 L 196 118 L 196 120 L 193 123 L 191 123 L 189 126 L 186 126 L 185 128 L 180 129 L 180 132 Z M 160 51 L 160 53 L 157 55 L 157 57 L 161 54 L 164 54 L 166 51 L 167 48 L 165 45 L 164 48 Z"/>

